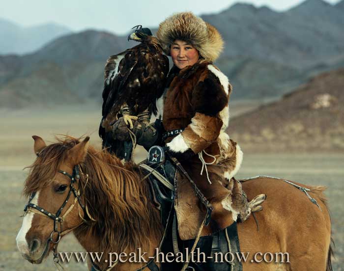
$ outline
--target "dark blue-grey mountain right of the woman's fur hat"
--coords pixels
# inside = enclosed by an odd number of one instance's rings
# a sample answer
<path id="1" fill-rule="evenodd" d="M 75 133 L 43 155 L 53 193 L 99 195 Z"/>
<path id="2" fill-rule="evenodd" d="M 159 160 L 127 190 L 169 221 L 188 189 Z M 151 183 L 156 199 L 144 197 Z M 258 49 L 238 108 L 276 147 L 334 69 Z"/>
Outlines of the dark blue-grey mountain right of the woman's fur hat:
<path id="1" fill-rule="evenodd" d="M 316 73 L 344 67 L 341 3 L 306 0 L 286 12 L 236 3 L 201 16 L 225 40 L 216 64 L 234 86 L 232 98 L 279 97 Z"/>

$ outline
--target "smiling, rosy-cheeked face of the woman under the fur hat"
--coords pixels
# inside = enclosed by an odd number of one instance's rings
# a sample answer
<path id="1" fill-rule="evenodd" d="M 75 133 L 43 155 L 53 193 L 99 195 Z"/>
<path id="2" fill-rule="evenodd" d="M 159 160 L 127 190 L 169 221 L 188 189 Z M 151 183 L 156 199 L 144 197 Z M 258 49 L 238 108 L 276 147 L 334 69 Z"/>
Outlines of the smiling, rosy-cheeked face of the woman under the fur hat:
<path id="1" fill-rule="evenodd" d="M 179 69 L 194 65 L 200 57 L 199 52 L 192 44 L 182 40 L 175 40 L 172 43 L 170 53 L 174 65 Z"/>

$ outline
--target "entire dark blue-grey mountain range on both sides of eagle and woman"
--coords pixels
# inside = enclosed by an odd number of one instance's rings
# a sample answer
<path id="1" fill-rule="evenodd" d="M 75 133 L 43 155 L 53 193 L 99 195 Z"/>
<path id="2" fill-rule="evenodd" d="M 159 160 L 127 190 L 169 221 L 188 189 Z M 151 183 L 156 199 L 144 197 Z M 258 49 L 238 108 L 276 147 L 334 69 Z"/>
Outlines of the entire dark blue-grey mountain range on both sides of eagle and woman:
<path id="1" fill-rule="evenodd" d="M 344 0 L 336 5 L 306 0 L 276 12 L 267 6 L 237 3 L 218 14 L 201 16 L 225 40 L 225 50 L 215 64 L 233 85 L 231 99 L 280 98 L 318 73 L 344 67 L 343 6 Z M 6 27 L 15 32 L 17 26 L 7 22 Z M 100 102 L 106 59 L 135 44 L 126 35 L 86 30 L 57 37 L 30 54 L 0 55 L 1 105 L 59 103 L 58 97 L 49 100 L 49 95 L 40 96 L 47 97 L 46 102 L 36 98 L 42 82 L 44 93 L 52 93 L 51 97 L 63 87 L 63 93 L 76 99 L 68 99 L 70 103 Z M 31 95 L 24 97 L 23 92 Z"/>

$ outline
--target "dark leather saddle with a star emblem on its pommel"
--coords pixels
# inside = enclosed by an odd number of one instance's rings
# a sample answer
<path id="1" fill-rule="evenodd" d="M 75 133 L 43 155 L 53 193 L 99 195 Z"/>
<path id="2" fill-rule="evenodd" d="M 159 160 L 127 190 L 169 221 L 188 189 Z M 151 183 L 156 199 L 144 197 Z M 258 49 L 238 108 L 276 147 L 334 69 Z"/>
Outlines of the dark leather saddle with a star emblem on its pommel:
<path id="1" fill-rule="evenodd" d="M 173 208 L 176 197 L 174 188 L 175 176 L 178 171 L 177 165 L 171 159 L 166 158 L 162 147 L 153 146 L 148 152 L 148 159 L 140 167 L 147 172 L 150 196 L 153 204 L 160 210 L 161 222 L 166 229 L 161 252 L 163 255 L 170 252 L 174 255 L 171 262 L 165 260 L 160 263 L 160 270 L 182 270 L 186 254 L 192 251 L 196 240 L 181 240 L 178 234 L 177 214 Z M 201 237 L 197 241 L 193 253 L 189 254 L 189 264 L 186 270 L 242 271 L 241 263 L 234 257 L 235 252 L 240 252 L 236 222 L 210 236 Z M 200 259 L 203 255 L 204 262 L 203 259 Z"/>

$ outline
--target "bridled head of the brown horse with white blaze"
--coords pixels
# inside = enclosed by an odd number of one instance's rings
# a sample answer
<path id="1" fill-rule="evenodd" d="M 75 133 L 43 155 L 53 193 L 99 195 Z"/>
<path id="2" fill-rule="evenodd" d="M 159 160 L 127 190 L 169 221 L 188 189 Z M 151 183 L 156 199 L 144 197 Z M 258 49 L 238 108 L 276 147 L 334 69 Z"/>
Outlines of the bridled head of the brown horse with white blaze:
<path id="1" fill-rule="evenodd" d="M 24 194 L 29 196 L 29 203 L 16 241 L 23 257 L 39 264 L 60 235 L 83 221 L 79 164 L 85 160 L 89 137 L 82 142 L 74 139 L 48 146 L 41 137 L 32 138 L 37 159 L 25 182 Z"/>

